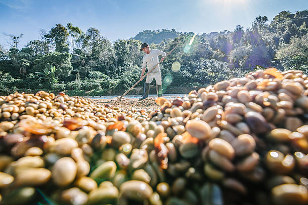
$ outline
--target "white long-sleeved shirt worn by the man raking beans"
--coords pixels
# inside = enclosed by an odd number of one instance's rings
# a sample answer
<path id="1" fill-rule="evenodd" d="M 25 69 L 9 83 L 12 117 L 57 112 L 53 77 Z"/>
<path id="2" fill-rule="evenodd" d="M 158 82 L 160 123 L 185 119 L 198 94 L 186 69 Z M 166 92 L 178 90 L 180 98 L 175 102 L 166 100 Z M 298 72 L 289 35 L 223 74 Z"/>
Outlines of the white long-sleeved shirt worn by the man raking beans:
<path id="1" fill-rule="evenodd" d="M 147 66 L 147 70 L 150 70 L 153 67 L 155 67 L 159 63 L 159 60 L 158 60 L 159 55 L 166 56 L 166 53 L 163 52 L 163 51 L 160 51 L 158 49 L 150 50 L 150 53 L 145 54 L 142 58 L 142 68 L 146 68 L 146 66 Z M 161 71 L 160 65 L 158 65 L 150 73 L 156 73 L 156 72 L 160 72 L 160 71 Z"/>

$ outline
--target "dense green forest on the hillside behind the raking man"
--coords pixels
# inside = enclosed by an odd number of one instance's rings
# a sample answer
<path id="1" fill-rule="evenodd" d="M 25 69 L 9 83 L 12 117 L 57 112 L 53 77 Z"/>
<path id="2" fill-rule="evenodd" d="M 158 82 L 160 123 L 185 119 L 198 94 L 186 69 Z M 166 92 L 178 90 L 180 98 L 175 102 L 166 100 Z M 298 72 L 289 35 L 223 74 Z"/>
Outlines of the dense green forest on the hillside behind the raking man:
<path id="1" fill-rule="evenodd" d="M 179 43 L 161 64 L 163 93 L 187 93 L 269 66 L 308 74 L 307 23 L 308 10 L 282 11 L 271 21 L 256 17 L 250 28 L 237 25 L 234 31 L 196 34 L 191 45 L 194 33 L 175 29 L 145 30 L 110 42 L 96 28 L 82 31 L 71 23 L 56 24 L 23 48 L 23 34 L 9 36 L 10 49 L 0 45 L 0 94 L 122 94 L 140 78 L 144 42 L 165 52 Z M 141 94 L 142 82 L 128 94 Z M 152 86 L 150 92 L 156 93 Z"/>

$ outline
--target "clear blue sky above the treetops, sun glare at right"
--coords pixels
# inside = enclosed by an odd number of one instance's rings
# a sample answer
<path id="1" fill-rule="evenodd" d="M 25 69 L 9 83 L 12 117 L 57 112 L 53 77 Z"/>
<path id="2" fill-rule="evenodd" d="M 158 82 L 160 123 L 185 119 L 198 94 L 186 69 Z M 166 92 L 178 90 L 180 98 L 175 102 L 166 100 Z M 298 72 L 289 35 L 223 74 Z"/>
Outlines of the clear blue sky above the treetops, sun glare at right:
<path id="1" fill-rule="evenodd" d="M 72 23 L 84 32 L 99 29 L 110 41 L 128 39 L 142 30 L 176 29 L 181 32 L 233 31 L 251 27 L 257 16 L 271 21 L 285 10 L 308 9 L 308 0 L 0 0 L 0 45 L 4 33 L 23 33 L 20 47 L 39 39 L 39 30 Z"/>

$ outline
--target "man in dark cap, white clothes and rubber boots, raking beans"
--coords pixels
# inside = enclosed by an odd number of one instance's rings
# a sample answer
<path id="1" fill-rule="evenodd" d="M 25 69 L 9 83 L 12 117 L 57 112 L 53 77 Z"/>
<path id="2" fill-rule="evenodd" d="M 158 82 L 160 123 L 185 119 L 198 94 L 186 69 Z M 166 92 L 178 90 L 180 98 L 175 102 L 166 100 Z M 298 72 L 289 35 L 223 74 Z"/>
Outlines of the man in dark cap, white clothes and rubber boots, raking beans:
<path id="1" fill-rule="evenodd" d="M 162 61 L 163 61 L 165 59 L 166 53 L 158 49 L 150 50 L 147 43 L 143 43 L 141 45 L 140 51 L 143 51 L 145 53 L 142 58 L 142 72 L 140 76 L 140 79 L 141 79 L 145 72 L 146 66 L 147 66 L 147 70 L 151 70 L 153 67 L 155 67 L 159 63 L 158 56 L 162 55 Z M 155 81 L 156 81 L 157 96 L 159 97 L 163 96 L 162 74 L 161 74 L 160 65 L 158 65 L 155 69 L 153 69 L 146 76 L 145 83 L 144 83 L 144 89 L 143 89 L 143 95 L 140 99 L 145 99 L 148 96 L 149 85 L 152 82 L 153 78 L 155 78 Z"/>

